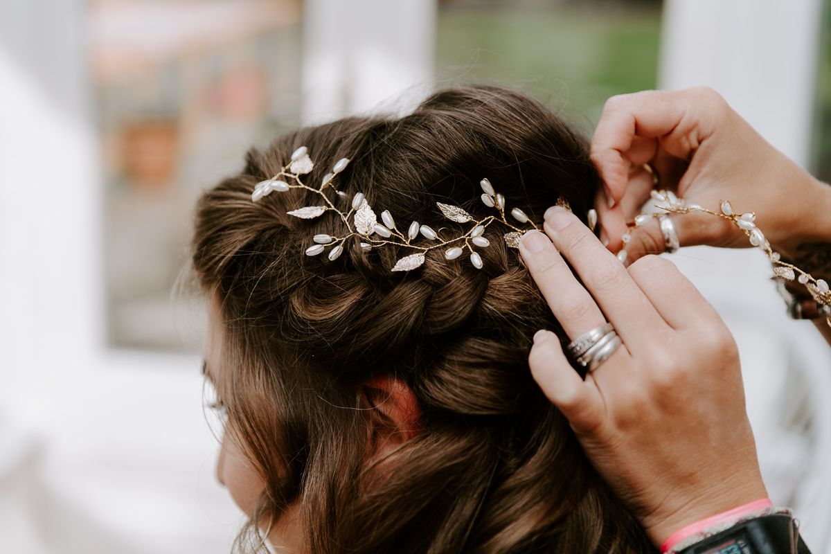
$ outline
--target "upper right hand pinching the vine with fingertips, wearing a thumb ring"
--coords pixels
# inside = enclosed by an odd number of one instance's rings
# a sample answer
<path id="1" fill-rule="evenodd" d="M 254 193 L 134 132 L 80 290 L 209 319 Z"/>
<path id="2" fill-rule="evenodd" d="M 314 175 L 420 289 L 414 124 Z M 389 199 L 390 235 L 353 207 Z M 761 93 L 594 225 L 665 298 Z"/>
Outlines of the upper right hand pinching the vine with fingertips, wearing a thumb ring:
<path id="1" fill-rule="evenodd" d="M 789 256 L 800 243 L 831 238 L 831 188 L 774 149 L 715 91 L 643 91 L 607 101 L 592 140 L 605 189 L 596 208 L 603 236 L 617 252 L 626 222 L 653 188 L 719 211 L 730 200 L 756 223 L 774 250 Z M 608 199 L 614 200 L 609 208 Z M 824 208 L 821 208 L 824 207 Z M 730 222 L 703 213 L 672 215 L 681 246 L 749 247 Z M 664 251 L 656 220 L 632 232 L 627 259 Z"/>

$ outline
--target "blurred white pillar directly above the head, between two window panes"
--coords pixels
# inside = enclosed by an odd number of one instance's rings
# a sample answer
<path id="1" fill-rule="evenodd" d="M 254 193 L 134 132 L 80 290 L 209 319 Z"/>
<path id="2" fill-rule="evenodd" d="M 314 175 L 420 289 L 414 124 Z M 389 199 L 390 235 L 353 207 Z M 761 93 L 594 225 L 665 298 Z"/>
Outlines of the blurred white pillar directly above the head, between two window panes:
<path id="1" fill-rule="evenodd" d="M 435 19 L 435 0 L 304 2 L 302 122 L 413 107 L 432 89 Z"/>

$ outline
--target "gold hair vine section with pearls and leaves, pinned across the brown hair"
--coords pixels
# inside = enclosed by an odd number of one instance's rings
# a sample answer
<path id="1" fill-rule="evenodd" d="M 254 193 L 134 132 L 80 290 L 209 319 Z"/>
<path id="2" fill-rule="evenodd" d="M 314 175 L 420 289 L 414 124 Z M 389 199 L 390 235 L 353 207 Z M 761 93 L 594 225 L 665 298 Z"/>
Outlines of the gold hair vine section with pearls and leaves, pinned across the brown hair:
<path id="1" fill-rule="evenodd" d="M 312 191 L 312 193 L 315 193 L 321 197 L 325 205 L 304 206 L 302 208 L 293 209 L 287 212 L 288 215 L 301 219 L 312 219 L 317 218 L 322 215 L 322 213 L 327 211 L 337 212 L 343 223 L 347 226 L 349 232 L 343 236 L 332 236 L 327 234 L 315 235 L 312 237 L 312 241 L 315 244 L 306 248 L 307 256 L 317 256 L 317 254 L 322 253 L 326 248 L 331 247 L 329 249 L 328 258 L 330 260 L 335 260 L 343 252 L 343 243 L 347 240 L 347 238 L 351 238 L 353 236 L 361 238 L 361 249 L 365 252 L 384 244 L 395 244 L 397 246 L 411 248 L 417 251 L 401 257 L 396 262 L 395 266 L 392 267 L 392 271 L 394 272 L 406 272 L 411 269 L 416 269 L 416 267 L 420 267 L 420 265 L 424 263 L 425 252 L 434 248 L 443 248 L 451 243 L 457 243 L 460 241 L 464 241 L 464 244 L 451 246 L 445 250 L 445 258 L 448 260 L 454 260 L 455 258 L 460 257 L 465 252 L 465 248 L 467 248 L 470 252 L 470 262 L 477 269 L 481 269 L 483 266 L 482 257 L 479 256 L 479 252 L 474 250 L 474 247 L 486 248 L 489 246 L 489 240 L 482 236 L 484 229 L 487 228 L 489 224 L 499 222 L 511 229 L 508 233 L 504 233 L 503 235 L 505 243 L 511 248 L 519 248 L 519 239 L 522 237 L 522 234 L 525 231 L 531 230 L 529 228 L 518 228 L 514 226 L 513 223 L 509 223 L 505 217 L 505 197 L 494 190 L 493 185 L 490 184 L 488 179 L 482 179 L 479 183 L 482 188 L 482 203 L 489 208 L 495 208 L 499 212 L 499 216 L 489 215 L 486 218 L 476 220 L 474 216 L 470 215 L 470 213 L 467 213 L 459 206 L 436 202 L 436 205 L 439 207 L 441 213 L 445 216 L 445 218 L 450 219 L 450 221 L 455 223 L 473 222 L 470 229 L 459 237 L 444 238 L 433 228 L 427 225 L 422 225 L 417 221 L 410 223 L 410 227 L 407 229 L 406 233 L 402 233 L 396 227 L 396 221 L 392 218 L 392 214 L 389 210 L 381 212 L 381 223 L 379 223 L 376 218 L 376 213 L 372 210 L 370 203 L 366 200 L 363 193 L 355 194 L 355 196 L 352 197 L 351 209 L 349 212 L 343 213 L 335 207 L 330 199 L 328 199 L 325 192 L 327 188 L 331 188 L 342 198 L 347 196 L 346 193 L 338 190 L 334 184 L 337 174 L 340 174 L 344 169 L 346 169 L 347 164 L 349 164 L 348 158 L 339 159 L 332 168 L 332 172 L 326 174 L 326 176 L 323 177 L 320 186 L 315 189 L 307 184 L 303 184 L 301 180 L 302 175 L 310 173 L 314 168 L 314 163 L 308 155 L 307 148 L 305 146 L 301 146 L 293 152 L 289 164 L 283 167 L 283 169 L 280 169 L 278 174 L 274 175 L 271 179 L 261 181 L 254 187 L 251 199 L 253 202 L 257 202 L 258 200 L 268 196 L 268 194 L 271 194 L 273 191 L 286 192 L 288 189 L 307 189 Z M 281 178 L 293 179 L 294 184 L 289 184 L 288 181 Z M 558 201 L 558 203 L 568 207 L 568 203 L 566 203 L 565 200 Z M 539 229 L 533 221 L 529 220 L 528 216 L 521 209 L 513 208 L 511 209 L 510 214 L 511 217 L 519 223 L 529 223 L 532 228 L 537 230 Z M 595 220 L 596 219 L 597 218 L 595 217 Z M 419 235 L 430 241 L 438 241 L 438 243 L 430 246 L 413 244 L 412 241 Z"/>

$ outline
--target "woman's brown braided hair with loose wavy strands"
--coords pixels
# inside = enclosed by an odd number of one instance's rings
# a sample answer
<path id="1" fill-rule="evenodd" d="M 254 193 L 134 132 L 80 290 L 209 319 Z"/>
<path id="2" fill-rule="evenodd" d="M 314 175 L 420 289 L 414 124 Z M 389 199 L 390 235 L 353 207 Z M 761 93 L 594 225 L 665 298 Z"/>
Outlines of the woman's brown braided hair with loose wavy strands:
<path id="1" fill-rule="evenodd" d="M 486 231 L 481 270 L 435 249 L 393 273 L 411 251 L 362 252 L 357 240 L 334 262 L 307 257 L 312 235 L 342 234 L 340 219 L 288 216 L 319 201 L 303 189 L 251 201 L 300 145 L 317 162 L 307 183 L 352 159 L 337 181 L 343 211 L 362 192 L 399 225 L 453 232 L 462 228 L 442 223 L 435 202 L 490 215 L 483 177 L 534 221 L 561 196 L 585 218 L 599 183 L 586 141 L 563 120 L 521 93 L 477 86 L 441 91 L 401 118 L 283 135 L 207 191 L 193 263 L 225 326 L 229 421 L 267 483 L 252 522 L 299 498 L 312 552 L 652 551 L 534 384 L 534 331 L 565 335 L 505 229 Z M 384 472 L 366 467 L 360 409 L 361 385 L 377 375 L 404 380 L 421 410 L 420 432 Z"/>

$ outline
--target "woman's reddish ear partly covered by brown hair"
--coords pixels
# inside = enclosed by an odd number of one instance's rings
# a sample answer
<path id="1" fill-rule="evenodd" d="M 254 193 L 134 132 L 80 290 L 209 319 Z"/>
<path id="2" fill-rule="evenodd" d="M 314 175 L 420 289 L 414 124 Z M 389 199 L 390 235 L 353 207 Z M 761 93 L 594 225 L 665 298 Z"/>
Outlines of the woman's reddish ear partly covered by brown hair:
<path id="1" fill-rule="evenodd" d="M 419 433 L 421 410 L 407 384 L 392 375 L 364 383 L 361 394 L 371 410 L 373 449 L 383 454 Z"/>

